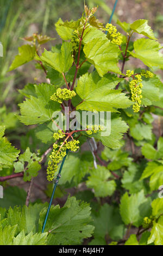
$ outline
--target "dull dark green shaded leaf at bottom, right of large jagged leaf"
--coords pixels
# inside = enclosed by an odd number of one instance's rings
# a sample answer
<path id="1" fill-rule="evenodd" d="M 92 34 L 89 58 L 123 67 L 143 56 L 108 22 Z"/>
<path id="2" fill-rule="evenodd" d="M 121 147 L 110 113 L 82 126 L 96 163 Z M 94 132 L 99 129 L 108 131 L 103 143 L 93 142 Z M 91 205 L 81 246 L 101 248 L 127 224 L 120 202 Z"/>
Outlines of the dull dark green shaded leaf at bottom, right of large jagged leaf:
<path id="1" fill-rule="evenodd" d="M 118 208 L 109 204 L 104 204 L 92 217 L 93 225 L 95 225 L 93 234 L 95 239 L 98 237 L 104 239 L 106 235 L 109 235 L 113 240 L 118 241 L 122 239 L 126 228 L 121 220 Z"/>

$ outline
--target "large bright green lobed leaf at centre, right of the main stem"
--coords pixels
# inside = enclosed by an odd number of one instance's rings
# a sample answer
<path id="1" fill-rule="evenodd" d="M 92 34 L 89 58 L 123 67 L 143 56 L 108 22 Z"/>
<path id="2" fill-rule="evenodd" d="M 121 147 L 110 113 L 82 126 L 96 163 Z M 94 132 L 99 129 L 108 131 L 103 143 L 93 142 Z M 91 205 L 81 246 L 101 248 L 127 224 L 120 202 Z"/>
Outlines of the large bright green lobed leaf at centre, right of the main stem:
<path id="1" fill-rule="evenodd" d="M 111 74 L 106 74 L 101 78 L 96 71 L 81 76 L 78 81 L 77 94 L 83 103 L 79 104 L 77 109 L 116 112 L 115 108 L 129 107 L 132 102 L 128 97 L 121 93 L 121 90 L 113 89 L 120 81 L 121 78 Z"/>

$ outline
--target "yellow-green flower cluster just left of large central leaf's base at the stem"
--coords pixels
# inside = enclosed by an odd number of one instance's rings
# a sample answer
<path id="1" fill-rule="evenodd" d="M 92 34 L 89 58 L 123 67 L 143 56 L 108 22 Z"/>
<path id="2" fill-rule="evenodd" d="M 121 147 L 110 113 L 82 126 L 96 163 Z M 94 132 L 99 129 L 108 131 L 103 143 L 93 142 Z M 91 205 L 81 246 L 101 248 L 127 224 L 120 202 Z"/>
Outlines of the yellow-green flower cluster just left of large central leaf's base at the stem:
<path id="1" fill-rule="evenodd" d="M 74 92 L 74 90 L 58 88 L 57 92 L 51 96 L 51 100 L 62 103 L 63 100 L 71 100 L 74 96 L 76 96 L 76 92 Z"/>

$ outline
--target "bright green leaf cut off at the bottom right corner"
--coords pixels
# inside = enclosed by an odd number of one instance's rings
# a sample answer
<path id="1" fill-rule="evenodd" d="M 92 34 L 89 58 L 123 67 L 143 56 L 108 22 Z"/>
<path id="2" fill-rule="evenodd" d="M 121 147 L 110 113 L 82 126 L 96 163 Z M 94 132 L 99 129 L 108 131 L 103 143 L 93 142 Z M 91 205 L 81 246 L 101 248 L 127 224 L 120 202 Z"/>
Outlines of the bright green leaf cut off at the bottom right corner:
<path id="1" fill-rule="evenodd" d="M 155 245 L 163 245 L 163 216 L 154 221 L 148 244 L 154 242 Z"/>

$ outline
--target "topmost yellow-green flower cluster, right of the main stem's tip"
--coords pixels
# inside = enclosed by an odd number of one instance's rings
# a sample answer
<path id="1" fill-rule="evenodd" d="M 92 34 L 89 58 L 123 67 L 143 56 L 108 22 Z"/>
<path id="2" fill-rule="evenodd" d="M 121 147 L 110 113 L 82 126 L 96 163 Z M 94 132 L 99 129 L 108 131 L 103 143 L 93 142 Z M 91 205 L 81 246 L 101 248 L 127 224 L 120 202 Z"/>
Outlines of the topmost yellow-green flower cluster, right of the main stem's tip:
<path id="1" fill-rule="evenodd" d="M 115 26 L 113 26 L 111 23 L 107 23 L 105 30 L 108 31 L 107 38 L 116 45 L 122 44 L 122 35 L 120 32 L 117 32 L 117 29 Z"/>

